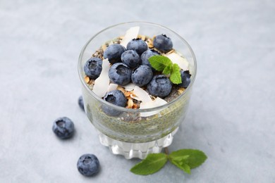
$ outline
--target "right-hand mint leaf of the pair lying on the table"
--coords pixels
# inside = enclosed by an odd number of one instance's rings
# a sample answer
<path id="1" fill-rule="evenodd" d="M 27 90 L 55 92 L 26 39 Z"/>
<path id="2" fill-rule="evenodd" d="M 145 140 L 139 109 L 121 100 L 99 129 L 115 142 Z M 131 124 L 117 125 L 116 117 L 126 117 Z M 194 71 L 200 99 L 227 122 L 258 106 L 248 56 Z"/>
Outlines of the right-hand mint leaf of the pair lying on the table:
<path id="1" fill-rule="evenodd" d="M 202 151 L 197 149 L 181 149 L 178 151 L 173 151 L 169 154 L 169 159 L 171 159 L 173 163 L 173 161 L 178 162 L 178 158 L 184 156 L 188 156 L 188 158 L 183 160 L 183 164 L 187 164 L 191 169 L 202 165 L 202 163 L 204 163 L 207 159 L 207 156 Z"/>

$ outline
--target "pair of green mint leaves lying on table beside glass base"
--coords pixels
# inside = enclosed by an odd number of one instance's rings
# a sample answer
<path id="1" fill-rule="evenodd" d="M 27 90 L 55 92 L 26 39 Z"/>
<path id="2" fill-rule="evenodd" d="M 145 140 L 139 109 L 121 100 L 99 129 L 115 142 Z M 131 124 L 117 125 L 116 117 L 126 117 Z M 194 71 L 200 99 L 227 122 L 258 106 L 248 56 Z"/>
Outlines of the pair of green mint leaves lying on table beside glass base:
<path id="1" fill-rule="evenodd" d="M 130 169 L 136 175 L 150 175 L 164 167 L 167 160 L 177 168 L 183 170 L 188 174 L 191 173 L 191 169 L 197 168 L 202 165 L 207 159 L 204 152 L 197 149 L 180 149 L 173 151 L 172 153 L 151 153 L 142 160 L 140 163 L 133 166 Z"/>

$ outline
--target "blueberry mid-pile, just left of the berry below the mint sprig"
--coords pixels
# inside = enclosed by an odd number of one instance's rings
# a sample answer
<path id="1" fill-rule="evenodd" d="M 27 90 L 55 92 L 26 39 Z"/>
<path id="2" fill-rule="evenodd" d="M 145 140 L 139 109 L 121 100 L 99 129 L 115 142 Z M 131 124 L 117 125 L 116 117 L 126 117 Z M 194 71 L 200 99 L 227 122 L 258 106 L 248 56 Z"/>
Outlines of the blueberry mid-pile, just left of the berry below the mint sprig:
<path id="1" fill-rule="evenodd" d="M 152 80 L 153 72 L 152 68 L 148 65 L 140 65 L 138 68 L 133 70 L 132 82 L 138 87 L 142 87 Z"/>

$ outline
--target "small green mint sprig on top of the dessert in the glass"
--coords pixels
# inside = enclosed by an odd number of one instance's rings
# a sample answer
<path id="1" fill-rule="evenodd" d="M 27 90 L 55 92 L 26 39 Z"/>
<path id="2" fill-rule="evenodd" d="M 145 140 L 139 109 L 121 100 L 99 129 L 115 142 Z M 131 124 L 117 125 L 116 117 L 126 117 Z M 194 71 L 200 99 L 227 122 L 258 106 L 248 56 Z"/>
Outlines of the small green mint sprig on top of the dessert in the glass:
<path id="1" fill-rule="evenodd" d="M 168 57 L 151 56 L 148 61 L 152 65 L 152 68 L 161 71 L 164 75 L 168 75 L 173 84 L 181 84 L 181 68 Z"/>

